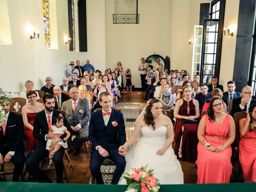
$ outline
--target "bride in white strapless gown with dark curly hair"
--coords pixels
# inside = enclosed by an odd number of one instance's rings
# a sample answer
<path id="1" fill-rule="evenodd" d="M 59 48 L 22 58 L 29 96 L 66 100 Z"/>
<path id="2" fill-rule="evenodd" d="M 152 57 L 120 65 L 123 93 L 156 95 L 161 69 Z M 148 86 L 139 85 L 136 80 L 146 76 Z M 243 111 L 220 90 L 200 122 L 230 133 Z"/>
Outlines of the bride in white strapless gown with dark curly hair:
<path id="1" fill-rule="evenodd" d="M 148 165 L 148 169 L 154 169 L 154 176 L 160 184 L 183 184 L 180 162 L 171 147 L 174 139 L 172 122 L 162 114 L 160 101 L 150 100 L 145 112 L 142 111 L 141 114 L 144 116 L 138 118 L 133 134 L 118 149 L 119 154 L 125 154 L 127 146 L 134 143 L 142 134 L 126 154 L 124 172 Z M 118 184 L 126 184 L 126 180 L 122 179 Z"/>

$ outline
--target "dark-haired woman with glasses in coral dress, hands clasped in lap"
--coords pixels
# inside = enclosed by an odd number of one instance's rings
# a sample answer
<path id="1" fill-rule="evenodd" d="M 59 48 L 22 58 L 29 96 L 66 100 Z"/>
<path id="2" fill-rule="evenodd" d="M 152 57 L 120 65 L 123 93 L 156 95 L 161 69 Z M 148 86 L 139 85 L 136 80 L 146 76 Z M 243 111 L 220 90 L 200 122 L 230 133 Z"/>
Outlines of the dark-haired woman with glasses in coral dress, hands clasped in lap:
<path id="1" fill-rule="evenodd" d="M 229 183 L 232 174 L 231 144 L 235 139 L 233 118 L 223 112 L 223 100 L 210 101 L 198 126 L 197 183 Z"/>

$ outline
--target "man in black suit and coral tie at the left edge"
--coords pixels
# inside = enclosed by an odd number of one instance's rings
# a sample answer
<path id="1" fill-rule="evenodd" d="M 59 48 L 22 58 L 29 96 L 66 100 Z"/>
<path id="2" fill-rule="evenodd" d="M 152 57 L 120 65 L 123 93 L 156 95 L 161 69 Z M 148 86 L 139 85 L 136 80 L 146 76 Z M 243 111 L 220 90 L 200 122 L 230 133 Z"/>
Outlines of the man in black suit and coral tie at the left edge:
<path id="1" fill-rule="evenodd" d="M 24 167 L 24 124 L 21 115 L 10 112 L 8 98 L 2 101 L 4 122 L 0 130 L 0 164 L 12 162 L 12 181 L 18 182 Z"/>

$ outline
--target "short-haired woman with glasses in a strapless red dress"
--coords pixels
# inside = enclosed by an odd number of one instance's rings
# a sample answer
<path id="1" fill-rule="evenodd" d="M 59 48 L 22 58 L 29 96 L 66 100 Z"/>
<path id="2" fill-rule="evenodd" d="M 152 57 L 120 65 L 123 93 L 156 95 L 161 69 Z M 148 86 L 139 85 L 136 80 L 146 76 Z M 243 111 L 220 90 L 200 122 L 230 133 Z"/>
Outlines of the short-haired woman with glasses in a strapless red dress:
<path id="1" fill-rule="evenodd" d="M 44 106 L 36 101 L 38 94 L 35 91 L 27 92 L 29 103 L 22 107 L 22 119 L 24 122 L 24 133 L 28 139 L 28 152 L 35 150 L 38 140 L 33 137 L 34 118 L 36 114 L 44 110 Z"/>

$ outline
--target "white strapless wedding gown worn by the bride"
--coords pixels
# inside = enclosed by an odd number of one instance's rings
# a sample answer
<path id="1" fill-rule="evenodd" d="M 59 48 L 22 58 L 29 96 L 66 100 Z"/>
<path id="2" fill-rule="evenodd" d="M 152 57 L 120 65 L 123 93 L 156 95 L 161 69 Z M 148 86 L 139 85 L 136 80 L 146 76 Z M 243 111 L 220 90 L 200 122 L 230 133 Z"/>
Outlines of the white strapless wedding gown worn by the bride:
<path id="1" fill-rule="evenodd" d="M 154 169 L 154 176 L 158 178 L 160 184 L 183 184 L 183 172 L 174 150 L 169 147 L 164 155 L 156 154 L 166 142 L 166 126 L 161 126 L 156 130 L 142 127 L 141 132 L 142 137 L 125 156 L 124 172 L 148 165 L 147 170 Z M 126 180 L 122 179 L 118 184 L 126 184 Z"/>

